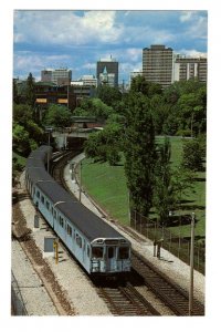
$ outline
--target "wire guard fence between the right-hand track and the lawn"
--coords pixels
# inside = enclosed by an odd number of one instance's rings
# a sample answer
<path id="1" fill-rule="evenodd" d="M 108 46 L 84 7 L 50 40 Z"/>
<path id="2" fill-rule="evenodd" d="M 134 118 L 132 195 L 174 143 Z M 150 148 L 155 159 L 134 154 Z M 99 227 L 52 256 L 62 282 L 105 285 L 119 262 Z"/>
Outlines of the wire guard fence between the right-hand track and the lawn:
<path id="1" fill-rule="evenodd" d="M 130 227 L 154 242 L 161 240 L 161 248 L 170 251 L 179 259 L 190 264 L 190 238 L 183 238 L 172 230 L 162 227 L 157 220 L 149 220 L 135 210 L 130 210 Z M 204 274 L 206 245 L 194 242 L 194 269 Z"/>

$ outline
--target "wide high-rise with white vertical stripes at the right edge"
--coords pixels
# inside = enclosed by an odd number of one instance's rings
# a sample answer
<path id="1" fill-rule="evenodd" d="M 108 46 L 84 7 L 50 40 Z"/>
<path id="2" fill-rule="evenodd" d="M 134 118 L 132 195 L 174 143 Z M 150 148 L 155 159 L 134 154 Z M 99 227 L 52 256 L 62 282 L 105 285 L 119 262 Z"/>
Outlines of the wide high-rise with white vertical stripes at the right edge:
<path id="1" fill-rule="evenodd" d="M 189 79 L 207 82 L 207 58 L 176 55 L 173 81 L 188 81 Z"/>

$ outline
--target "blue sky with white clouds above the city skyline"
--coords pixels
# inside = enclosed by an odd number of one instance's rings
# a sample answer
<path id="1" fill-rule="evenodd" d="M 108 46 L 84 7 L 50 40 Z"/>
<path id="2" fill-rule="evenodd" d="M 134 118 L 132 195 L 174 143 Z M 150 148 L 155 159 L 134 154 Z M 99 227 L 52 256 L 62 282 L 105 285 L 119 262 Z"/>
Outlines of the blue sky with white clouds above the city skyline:
<path id="1" fill-rule="evenodd" d="M 119 84 L 141 71 L 143 49 L 207 55 L 207 10 L 14 10 L 13 76 L 36 81 L 41 70 L 69 68 L 72 79 L 96 75 L 103 58 L 119 62 Z"/>

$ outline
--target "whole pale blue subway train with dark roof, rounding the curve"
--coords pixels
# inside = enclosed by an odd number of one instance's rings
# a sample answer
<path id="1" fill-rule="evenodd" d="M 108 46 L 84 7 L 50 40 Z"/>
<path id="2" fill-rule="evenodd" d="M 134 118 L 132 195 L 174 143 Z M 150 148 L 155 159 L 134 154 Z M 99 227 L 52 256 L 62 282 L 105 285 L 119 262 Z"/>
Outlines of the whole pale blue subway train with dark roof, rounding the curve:
<path id="1" fill-rule="evenodd" d="M 34 206 L 88 274 L 129 272 L 130 242 L 54 180 L 45 169 L 51 156 L 43 145 L 28 157 L 25 185 Z"/>

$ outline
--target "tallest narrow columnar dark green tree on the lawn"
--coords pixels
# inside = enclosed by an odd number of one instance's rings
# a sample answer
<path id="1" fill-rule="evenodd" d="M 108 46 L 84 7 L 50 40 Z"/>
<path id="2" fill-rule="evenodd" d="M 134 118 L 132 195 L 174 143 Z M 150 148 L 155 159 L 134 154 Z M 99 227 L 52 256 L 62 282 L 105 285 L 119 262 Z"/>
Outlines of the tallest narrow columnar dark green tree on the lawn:
<path id="1" fill-rule="evenodd" d="M 155 129 L 149 100 L 141 93 L 130 93 L 125 127 L 125 174 L 133 208 L 148 216 L 152 205 L 156 163 Z"/>

